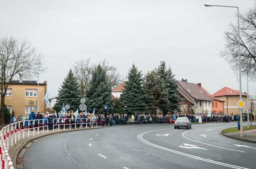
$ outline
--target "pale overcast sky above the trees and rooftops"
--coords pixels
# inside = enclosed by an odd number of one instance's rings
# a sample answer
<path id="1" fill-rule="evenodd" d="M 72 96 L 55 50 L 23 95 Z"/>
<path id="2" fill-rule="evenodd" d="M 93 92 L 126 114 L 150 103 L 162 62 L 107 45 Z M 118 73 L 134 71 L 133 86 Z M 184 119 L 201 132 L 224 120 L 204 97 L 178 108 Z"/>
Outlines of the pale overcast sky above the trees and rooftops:
<path id="1" fill-rule="evenodd" d="M 254 0 L 11 0 L 0 2 L 0 37 L 28 39 L 44 54 L 49 98 L 58 94 L 72 63 L 106 59 L 122 76 L 134 63 L 142 73 L 166 61 L 175 78 L 202 83 L 211 94 L 239 83 L 219 56 L 224 31 Z M 36 78 L 34 80 L 37 80 Z M 242 91 L 247 91 L 242 78 Z M 249 82 L 255 95 L 256 83 Z"/>

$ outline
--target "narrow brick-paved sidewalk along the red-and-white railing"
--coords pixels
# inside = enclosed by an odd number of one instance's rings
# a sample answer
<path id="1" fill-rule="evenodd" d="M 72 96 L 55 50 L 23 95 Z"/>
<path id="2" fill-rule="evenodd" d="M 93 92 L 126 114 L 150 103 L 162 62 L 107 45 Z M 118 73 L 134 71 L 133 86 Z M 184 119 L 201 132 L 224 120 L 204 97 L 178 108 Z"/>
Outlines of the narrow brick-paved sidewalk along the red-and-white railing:
<path id="1" fill-rule="evenodd" d="M 25 131 L 24 133 L 24 139 L 23 139 L 23 131 L 20 131 L 20 140 L 18 141 L 18 135 L 17 135 L 17 144 L 14 144 L 14 137 L 13 137 L 13 146 L 11 147 L 11 138 L 9 140 L 9 149 L 8 149 L 8 153 L 12 159 L 13 162 L 13 166 L 16 169 L 23 169 L 23 164 L 22 164 L 22 158 L 23 158 L 23 154 L 25 153 L 26 149 L 37 139 L 46 137 L 46 136 L 50 136 L 53 134 L 59 134 L 59 133 L 65 133 L 65 132 L 72 132 L 72 131 L 81 131 L 81 130 L 91 130 L 91 129 L 99 129 L 99 128 L 103 128 L 103 127 L 92 127 L 92 128 L 82 128 L 82 129 L 54 129 L 54 130 L 49 130 L 47 132 L 47 130 L 43 130 L 39 131 L 38 134 L 38 130 L 34 131 L 34 135 L 33 135 L 33 131 L 29 131 L 29 137 L 28 137 L 28 130 Z"/>

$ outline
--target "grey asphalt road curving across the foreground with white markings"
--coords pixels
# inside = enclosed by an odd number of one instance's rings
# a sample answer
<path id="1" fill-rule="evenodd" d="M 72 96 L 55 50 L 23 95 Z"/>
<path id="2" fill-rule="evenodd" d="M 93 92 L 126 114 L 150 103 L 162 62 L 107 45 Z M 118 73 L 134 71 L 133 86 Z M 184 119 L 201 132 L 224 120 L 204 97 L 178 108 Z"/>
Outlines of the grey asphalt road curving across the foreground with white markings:
<path id="1" fill-rule="evenodd" d="M 256 144 L 219 134 L 237 123 L 108 126 L 52 135 L 34 142 L 25 169 L 255 168 Z"/>

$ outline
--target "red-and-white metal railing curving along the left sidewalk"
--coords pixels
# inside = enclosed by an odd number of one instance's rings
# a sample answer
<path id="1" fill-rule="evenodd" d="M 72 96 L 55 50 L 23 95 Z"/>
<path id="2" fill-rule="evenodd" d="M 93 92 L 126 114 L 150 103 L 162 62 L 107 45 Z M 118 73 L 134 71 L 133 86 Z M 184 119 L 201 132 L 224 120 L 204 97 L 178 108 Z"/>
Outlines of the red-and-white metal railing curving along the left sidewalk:
<path id="1" fill-rule="evenodd" d="M 63 124 L 62 124 L 63 119 Z M 65 121 L 67 122 L 65 124 Z M 9 145 L 12 147 L 17 144 L 20 139 L 24 139 L 25 135 L 29 137 L 30 132 L 32 132 L 33 136 L 36 133 L 44 134 L 44 132 L 49 132 L 50 129 L 60 130 L 71 130 L 73 127 L 74 129 L 80 128 L 87 128 L 87 127 L 97 127 L 98 120 L 97 118 L 81 118 L 80 123 L 76 123 L 76 119 L 67 119 L 67 118 L 54 118 L 52 124 L 48 124 L 48 119 L 37 119 L 37 120 L 22 120 L 18 121 L 13 124 L 9 124 L 5 126 L 0 131 L 0 159 L 1 159 L 1 168 L 2 169 L 14 169 L 12 159 L 8 153 Z M 50 129 L 49 129 L 50 128 Z M 31 130 L 30 130 L 31 129 Z M 42 132 L 40 132 L 42 130 Z M 26 134 L 25 134 L 26 133 Z M 22 137 L 20 136 L 22 135 Z M 14 140 L 13 140 L 14 139 Z M 9 141 L 11 142 L 9 144 Z"/>

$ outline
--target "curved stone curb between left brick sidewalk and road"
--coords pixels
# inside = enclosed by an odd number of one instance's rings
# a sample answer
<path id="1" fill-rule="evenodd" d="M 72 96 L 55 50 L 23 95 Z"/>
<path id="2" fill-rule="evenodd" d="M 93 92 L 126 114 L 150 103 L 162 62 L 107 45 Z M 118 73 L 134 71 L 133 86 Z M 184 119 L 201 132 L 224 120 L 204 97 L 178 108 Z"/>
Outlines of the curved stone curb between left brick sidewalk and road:
<path id="1" fill-rule="evenodd" d="M 79 129 L 79 130 L 67 130 L 67 131 L 57 131 L 54 133 L 47 133 L 44 135 L 38 135 L 38 137 L 34 137 L 34 138 L 27 138 L 27 140 L 22 144 L 19 145 L 17 150 L 13 157 L 12 157 L 12 162 L 14 164 L 14 168 L 16 169 L 24 169 L 23 168 L 23 163 L 22 163 L 22 158 L 24 153 L 26 152 L 27 148 L 35 141 L 44 137 L 48 137 L 51 135 L 55 135 L 55 134 L 61 134 L 61 133 L 67 133 L 67 132 L 73 132 L 73 131 L 82 131 L 82 130 L 93 130 L 93 129 L 100 129 L 100 128 L 104 128 L 104 127 L 94 127 L 94 128 L 84 128 L 84 129 Z M 18 144 L 17 144 L 18 145 Z M 17 163 L 18 161 L 20 161 L 19 163 Z"/>

